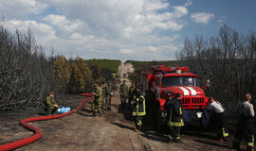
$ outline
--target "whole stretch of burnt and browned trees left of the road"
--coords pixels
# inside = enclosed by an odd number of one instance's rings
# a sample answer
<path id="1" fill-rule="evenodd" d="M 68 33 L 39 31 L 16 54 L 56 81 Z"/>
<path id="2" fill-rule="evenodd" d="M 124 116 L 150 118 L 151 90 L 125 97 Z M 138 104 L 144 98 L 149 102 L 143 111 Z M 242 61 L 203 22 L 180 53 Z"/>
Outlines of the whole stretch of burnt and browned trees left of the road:
<path id="1" fill-rule="evenodd" d="M 91 92 L 93 83 L 113 80 L 113 71 L 97 63 L 89 67 L 81 58 L 46 57 L 29 29 L 13 34 L 0 25 L 0 56 L 0 110 L 40 109 L 47 92 Z"/>

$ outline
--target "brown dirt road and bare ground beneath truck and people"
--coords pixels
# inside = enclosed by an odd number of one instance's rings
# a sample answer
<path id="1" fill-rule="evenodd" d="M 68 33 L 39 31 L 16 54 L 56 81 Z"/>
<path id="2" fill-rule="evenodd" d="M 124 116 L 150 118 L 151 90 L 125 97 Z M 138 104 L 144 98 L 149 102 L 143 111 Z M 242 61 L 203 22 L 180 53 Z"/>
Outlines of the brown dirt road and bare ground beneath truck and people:
<path id="1" fill-rule="evenodd" d="M 122 78 L 121 80 L 123 80 Z M 127 79 L 126 79 L 127 80 Z M 74 109 L 84 97 L 70 95 L 61 101 L 62 106 Z M 114 92 L 112 110 L 101 117 L 93 117 L 91 102 L 77 113 L 60 119 L 32 123 L 43 131 L 43 137 L 17 151 L 219 151 L 232 150 L 231 142 L 220 143 L 216 134 L 200 127 L 182 129 L 183 143 L 168 143 L 165 134 L 154 130 L 134 132 L 133 122 L 119 109 L 119 89 Z M 37 111 L 0 113 L 0 144 L 10 143 L 32 135 L 19 125 L 21 119 L 38 116 Z M 199 132 L 200 131 L 200 132 Z"/>

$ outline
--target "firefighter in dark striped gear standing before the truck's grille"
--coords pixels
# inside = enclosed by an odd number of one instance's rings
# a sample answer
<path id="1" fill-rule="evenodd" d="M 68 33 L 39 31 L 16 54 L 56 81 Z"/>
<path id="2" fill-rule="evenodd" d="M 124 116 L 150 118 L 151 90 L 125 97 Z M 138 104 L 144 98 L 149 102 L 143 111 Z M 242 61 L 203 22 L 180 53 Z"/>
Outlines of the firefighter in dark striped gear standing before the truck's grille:
<path id="1" fill-rule="evenodd" d="M 181 126 L 184 126 L 184 122 L 182 119 L 181 99 L 181 93 L 176 93 L 175 98 L 172 99 L 168 107 L 167 125 L 170 128 L 168 135 L 169 143 L 182 143 L 180 141 L 180 129 Z"/>

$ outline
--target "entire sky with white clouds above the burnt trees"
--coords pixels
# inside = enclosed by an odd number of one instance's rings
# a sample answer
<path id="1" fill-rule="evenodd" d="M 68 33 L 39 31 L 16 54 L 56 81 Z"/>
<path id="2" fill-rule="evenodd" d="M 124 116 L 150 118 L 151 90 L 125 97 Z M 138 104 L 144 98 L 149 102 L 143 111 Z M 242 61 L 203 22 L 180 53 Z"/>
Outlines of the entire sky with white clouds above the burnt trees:
<path id="1" fill-rule="evenodd" d="M 0 0 L 10 31 L 29 27 L 46 55 L 83 59 L 175 59 L 185 38 L 222 24 L 255 31 L 255 0 Z"/>

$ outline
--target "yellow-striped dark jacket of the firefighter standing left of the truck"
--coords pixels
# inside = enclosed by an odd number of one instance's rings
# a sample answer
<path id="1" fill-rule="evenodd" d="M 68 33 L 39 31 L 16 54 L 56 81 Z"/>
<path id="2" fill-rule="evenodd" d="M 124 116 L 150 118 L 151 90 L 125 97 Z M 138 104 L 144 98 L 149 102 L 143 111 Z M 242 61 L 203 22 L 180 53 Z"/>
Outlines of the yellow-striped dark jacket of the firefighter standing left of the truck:
<path id="1" fill-rule="evenodd" d="M 133 110 L 133 116 L 144 116 L 146 115 L 145 97 L 140 95 L 136 99 L 136 106 Z"/>

